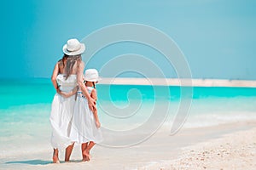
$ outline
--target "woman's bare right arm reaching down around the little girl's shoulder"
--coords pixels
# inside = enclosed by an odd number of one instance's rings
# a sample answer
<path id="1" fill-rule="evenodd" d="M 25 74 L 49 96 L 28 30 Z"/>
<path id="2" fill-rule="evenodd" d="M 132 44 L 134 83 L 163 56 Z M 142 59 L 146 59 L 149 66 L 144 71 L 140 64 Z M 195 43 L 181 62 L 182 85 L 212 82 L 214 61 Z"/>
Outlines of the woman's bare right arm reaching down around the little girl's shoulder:
<path id="1" fill-rule="evenodd" d="M 81 89 L 83 95 L 88 100 L 88 105 L 91 111 L 93 111 L 94 108 L 96 108 L 95 99 L 92 99 L 90 97 L 90 94 L 88 93 L 85 85 L 84 85 L 84 62 L 82 61 L 79 65 L 78 72 L 77 72 L 77 79 L 79 88 Z"/>

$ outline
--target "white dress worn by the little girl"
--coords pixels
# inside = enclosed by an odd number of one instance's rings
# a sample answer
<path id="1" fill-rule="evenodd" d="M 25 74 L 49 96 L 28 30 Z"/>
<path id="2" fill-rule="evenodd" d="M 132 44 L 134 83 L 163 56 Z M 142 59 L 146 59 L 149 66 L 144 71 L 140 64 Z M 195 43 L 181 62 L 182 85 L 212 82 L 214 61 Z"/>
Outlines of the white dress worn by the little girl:
<path id="1" fill-rule="evenodd" d="M 87 87 L 89 94 L 93 88 Z M 83 144 L 93 141 L 96 144 L 102 142 L 102 131 L 96 127 L 95 117 L 90 111 L 87 99 L 82 92 L 78 92 L 78 98 L 75 103 L 73 122 L 70 138 L 78 143 Z"/>

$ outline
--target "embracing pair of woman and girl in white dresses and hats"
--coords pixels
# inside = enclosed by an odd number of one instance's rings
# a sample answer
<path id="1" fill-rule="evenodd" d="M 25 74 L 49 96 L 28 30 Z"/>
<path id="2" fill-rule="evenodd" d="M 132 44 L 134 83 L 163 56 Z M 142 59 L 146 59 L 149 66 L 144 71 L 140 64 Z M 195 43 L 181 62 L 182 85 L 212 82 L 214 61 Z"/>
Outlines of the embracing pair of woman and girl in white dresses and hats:
<path id="1" fill-rule="evenodd" d="M 74 143 L 81 144 L 83 161 L 90 161 L 91 148 L 102 141 L 96 110 L 99 76 L 95 69 L 84 73 L 84 50 L 84 43 L 68 40 L 63 46 L 64 56 L 56 63 L 51 77 L 56 90 L 49 117 L 54 163 L 60 162 L 58 154 L 62 149 L 66 149 L 65 161 L 69 161 Z"/>

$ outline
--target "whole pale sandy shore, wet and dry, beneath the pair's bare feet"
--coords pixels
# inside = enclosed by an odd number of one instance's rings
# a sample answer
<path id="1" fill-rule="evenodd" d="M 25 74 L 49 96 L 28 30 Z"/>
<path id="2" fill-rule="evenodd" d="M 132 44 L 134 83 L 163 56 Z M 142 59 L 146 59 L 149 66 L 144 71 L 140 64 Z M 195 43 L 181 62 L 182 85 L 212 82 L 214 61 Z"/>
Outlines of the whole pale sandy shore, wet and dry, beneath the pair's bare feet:
<path id="1" fill-rule="evenodd" d="M 253 169 L 255 126 L 256 122 L 237 122 L 182 129 L 173 136 L 160 129 L 144 143 L 132 147 L 96 146 L 89 162 L 80 161 L 76 146 L 71 162 L 53 164 L 50 146 L 45 145 L 40 153 L 24 150 L 16 156 L 6 156 L 0 165 L 3 169 Z M 60 158 L 63 160 L 63 152 Z"/>

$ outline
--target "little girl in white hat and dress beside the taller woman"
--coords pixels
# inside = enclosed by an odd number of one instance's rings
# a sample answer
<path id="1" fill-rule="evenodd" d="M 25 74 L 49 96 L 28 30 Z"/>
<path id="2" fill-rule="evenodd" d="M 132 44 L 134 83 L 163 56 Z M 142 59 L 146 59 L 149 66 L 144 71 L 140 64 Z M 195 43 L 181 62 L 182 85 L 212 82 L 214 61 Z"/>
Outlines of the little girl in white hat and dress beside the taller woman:
<path id="1" fill-rule="evenodd" d="M 84 74 L 85 86 L 93 99 L 96 97 L 96 82 L 98 82 L 98 71 L 88 69 Z M 88 101 L 81 91 L 78 91 L 78 99 L 75 104 L 73 114 L 73 126 L 71 128 L 70 138 L 79 144 L 82 144 L 83 161 L 90 161 L 90 150 L 97 144 L 102 142 L 101 123 L 97 115 L 96 109 L 90 111 Z"/>

